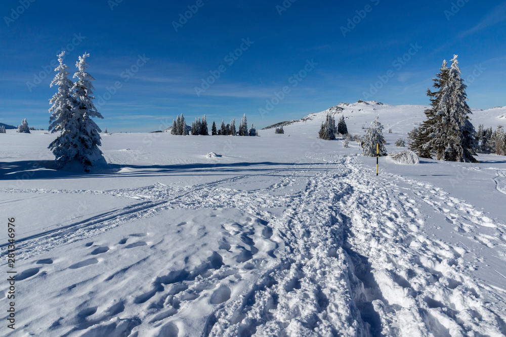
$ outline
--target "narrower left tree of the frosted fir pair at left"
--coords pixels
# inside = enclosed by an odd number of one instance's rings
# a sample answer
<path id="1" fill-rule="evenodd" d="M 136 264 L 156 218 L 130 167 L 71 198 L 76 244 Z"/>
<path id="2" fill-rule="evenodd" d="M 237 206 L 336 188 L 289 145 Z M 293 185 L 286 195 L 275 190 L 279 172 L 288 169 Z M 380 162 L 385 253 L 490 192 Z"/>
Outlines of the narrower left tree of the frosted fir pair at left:
<path id="1" fill-rule="evenodd" d="M 72 87 L 74 83 L 68 78 L 69 72 L 66 64 L 63 63 L 65 52 L 58 55 L 60 65 L 55 69 L 57 74 L 50 84 L 58 86 L 58 92 L 53 95 L 49 103 L 53 106 L 49 109 L 51 117 L 49 118 L 49 131 L 51 133 L 59 132 L 55 140 L 51 142 L 48 149 L 55 155 L 55 164 L 57 168 L 62 168 L 65 164 L 72 161 L 73 147 L 76 136 L 75 129 L 70 128 L 69 122 L 72 118 L 72 111 L 76 105 L 72 97 Z"/>

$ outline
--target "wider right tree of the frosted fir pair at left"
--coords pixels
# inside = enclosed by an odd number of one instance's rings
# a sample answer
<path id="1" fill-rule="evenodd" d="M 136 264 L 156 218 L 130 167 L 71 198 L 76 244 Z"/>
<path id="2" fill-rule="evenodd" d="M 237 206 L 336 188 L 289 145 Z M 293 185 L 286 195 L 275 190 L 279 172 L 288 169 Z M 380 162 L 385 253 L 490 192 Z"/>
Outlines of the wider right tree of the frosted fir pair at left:
<path id="1" fill-rule="evenodd" d="M 79 56 L 79 61 L 75 64 L 77 71 L 74 78 L 77 78 L 77 81 L 74 82 L 71 89 L 74 106 L 60 140 L 60 144 L 65 145 L 64 152 L 55 154 L 57 165 L 60 168 L 73 162 L 82 166 L 85 171 L 89 171 L 94 163 L 105 163 L 102 151 L 99 149 L 99 146 L 102 145 L 100 138 L 102 130 L 92 120 L 94 117 L 104 117 L 97 111 L 92 101 L 95 99 L 92 84 L 95 78 L 86 71 L 88 69 L 86 58 L 89 56 L 86 53 Z M 50 148 L 52 146 L 53 143 Z"/>

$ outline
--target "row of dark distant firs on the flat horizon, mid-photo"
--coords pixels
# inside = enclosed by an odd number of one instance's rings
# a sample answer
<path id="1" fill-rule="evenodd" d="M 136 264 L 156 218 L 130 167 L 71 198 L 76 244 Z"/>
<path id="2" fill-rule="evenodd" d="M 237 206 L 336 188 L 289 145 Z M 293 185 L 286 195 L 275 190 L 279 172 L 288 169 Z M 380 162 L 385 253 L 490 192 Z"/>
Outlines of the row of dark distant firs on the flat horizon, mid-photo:
<path id="1" fill-rule="evenodd" d="M 174 120 L 171 127 L 171 134 L 174 135 L 209 135 L 209 130 L 207 128 L 207 120 L 205 115 L 202 116 L 202 120 L 200 118 L 195 118 L 195 121 L 192 122 L 191 127 L 186 125 L 185 117 L 183 114 L 178 115 L 178 117 Z M 239 130 L 235 127 L 235 119 L 233 119 L 230 124 L 225 125 L 225 121 L 222 120 L 222 124 L 220 129 L 217 129 L 216 122 L 213 121 L 213 125 L 211 126 L 211 135 L 222 135 L 222 136 L 258 136 L 258 131 L 255 128 L 255 125 L 251 124 L 251 127 L 248 129 L 246 114 L 242 117 L 241 123 L 239 124 Z"/>

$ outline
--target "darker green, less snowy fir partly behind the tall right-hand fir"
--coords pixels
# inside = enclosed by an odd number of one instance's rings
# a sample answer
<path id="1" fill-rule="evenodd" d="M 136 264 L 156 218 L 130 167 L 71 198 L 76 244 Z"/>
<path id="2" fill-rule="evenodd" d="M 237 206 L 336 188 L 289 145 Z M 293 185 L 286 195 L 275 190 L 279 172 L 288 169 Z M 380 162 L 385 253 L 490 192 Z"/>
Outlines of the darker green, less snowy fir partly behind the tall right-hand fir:
<path id="1" fill-rule="evenodd" d="M 444 60 L 439 73 L 436 74 L 436 78 L 432 79 L 434 81 L 433 87 L 437 90 L 431 91 L 431 89 L 427 89 L 431 108 L 424 111 L 426 120 L 408 133 L 411 140 L 409 142 L 409 150 L 415 152 L 420 158 L 432 158 L 436 154 L 436 150 L 427 143 L 431 139 L 430 134 L 434 125 L 441 123 L 441 116 L 437 114 L 437 109 L 442 95 L 441 90 L 448 82 L 449 74 L 450 69 L 447 67 L 446 60 Z"/>

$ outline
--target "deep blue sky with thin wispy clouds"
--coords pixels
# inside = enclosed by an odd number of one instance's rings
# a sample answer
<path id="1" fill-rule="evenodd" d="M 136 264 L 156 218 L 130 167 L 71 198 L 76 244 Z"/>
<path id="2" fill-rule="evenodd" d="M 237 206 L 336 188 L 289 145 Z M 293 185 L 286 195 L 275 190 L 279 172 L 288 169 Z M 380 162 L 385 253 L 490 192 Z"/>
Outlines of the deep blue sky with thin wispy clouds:
<path id="1" fill-rule="evenodd" d="M 61 49 L 71 74 L 90 54 L 96 122 L 112 132 L 158 130 L 181 113 L 188 124 L 245 113 L 261 128 L 359 99 L 427 105 L 453 54 L 472 108 L 506 105 L 505 1 L 4 0 L 0 14 L 7 124 L 48 126 Z"/>

